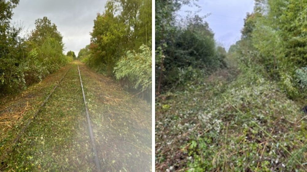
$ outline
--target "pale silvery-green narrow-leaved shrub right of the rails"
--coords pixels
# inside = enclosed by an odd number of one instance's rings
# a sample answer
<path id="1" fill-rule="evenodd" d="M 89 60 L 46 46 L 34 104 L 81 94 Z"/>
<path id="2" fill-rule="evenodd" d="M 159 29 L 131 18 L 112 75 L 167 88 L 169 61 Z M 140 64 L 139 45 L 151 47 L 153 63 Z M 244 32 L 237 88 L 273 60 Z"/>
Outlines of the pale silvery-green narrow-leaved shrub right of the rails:
<path id="1" fill-rule="evenodd" d="M 114 73 L 117 79 L 127 77 L 137 89 L 141 87 L 142 91 L 151 90 L 151 50 L 149 47 L 142 45 L 139 50 L 127 51 L 126 56 L 122 57 L 114 67 Z"/>

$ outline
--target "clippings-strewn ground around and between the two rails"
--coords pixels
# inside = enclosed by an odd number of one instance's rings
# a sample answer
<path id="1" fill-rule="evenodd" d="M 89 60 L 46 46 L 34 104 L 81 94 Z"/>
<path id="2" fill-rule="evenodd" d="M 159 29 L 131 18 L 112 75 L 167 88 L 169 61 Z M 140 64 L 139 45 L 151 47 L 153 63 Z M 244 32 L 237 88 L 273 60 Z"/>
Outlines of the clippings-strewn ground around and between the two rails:
<path id="1" fill-rule="evenodd" d="M 150 171 L 150 106 L 123 91 L 110 78 L 77 63 L 102 169 Z M 12 144 L 67 71 L 67 76 L 19 141 Z M 1 103 L 2 171 L 95 171 L 76 63 L 65 66 L 21 94 L 1 99 Z"/>

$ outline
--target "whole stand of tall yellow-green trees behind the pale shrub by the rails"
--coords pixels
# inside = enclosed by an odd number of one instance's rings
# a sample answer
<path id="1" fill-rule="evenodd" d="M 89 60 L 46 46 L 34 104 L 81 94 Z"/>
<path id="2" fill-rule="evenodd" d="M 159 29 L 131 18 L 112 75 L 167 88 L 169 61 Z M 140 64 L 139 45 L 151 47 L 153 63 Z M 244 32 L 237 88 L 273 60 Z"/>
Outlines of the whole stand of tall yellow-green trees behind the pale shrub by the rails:
<path id="1" fill-rule="evenodd" d="M 151 1 L 110 0 L 94 20 L 87 64 L 112 76 L 127 50 L 139 51 L 151 40 Z"/>

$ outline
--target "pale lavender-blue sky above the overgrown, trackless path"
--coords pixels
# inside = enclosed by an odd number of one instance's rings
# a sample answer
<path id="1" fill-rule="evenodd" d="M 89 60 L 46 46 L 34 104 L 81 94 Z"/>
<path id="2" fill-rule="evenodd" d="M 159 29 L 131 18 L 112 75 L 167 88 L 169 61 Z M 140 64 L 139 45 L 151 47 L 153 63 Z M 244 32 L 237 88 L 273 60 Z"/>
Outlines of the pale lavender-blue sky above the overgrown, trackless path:
<path id="1" fill-rule="evenodd" d="M 247 12 L 253 11 L 254 0 L 199 0 L 196 4 L 201 7 L 198 13 L 200 16 L 211 13 L 204 20 L 209 23 L 209 27 L 215 33 L 216 41 L 228 50 L 240 39 L 244 18 Z M 180 14 L 187 14 L 184 11 L 196 11 L 196 9 L 196 7 L 185 6 Z"/>

